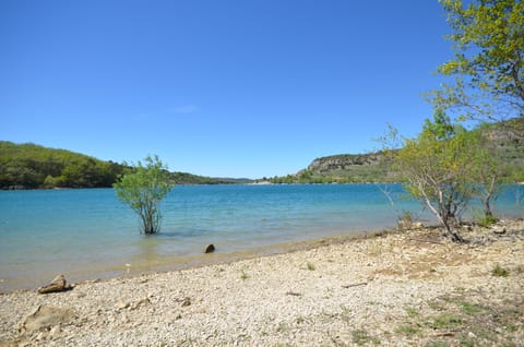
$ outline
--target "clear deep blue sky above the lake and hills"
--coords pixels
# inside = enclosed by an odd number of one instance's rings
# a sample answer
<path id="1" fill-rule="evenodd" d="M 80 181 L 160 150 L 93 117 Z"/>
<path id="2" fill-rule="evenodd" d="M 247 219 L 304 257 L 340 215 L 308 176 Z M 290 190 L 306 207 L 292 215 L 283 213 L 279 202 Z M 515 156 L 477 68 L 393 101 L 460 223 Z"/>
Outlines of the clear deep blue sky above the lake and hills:
<path id="1" fill-rule="evenodd" d="M 282 176 L 431 117 L 437 0 L 0 1 L 0 140 Z"/>

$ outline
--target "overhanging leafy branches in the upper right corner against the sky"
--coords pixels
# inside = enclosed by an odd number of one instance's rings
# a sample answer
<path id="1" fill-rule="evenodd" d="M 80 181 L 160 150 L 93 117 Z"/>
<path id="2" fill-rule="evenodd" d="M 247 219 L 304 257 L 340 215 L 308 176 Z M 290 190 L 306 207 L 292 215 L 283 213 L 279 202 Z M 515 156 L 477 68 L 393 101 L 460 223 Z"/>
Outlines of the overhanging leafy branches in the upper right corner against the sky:
<path id="1" fill-rule="evenodd" d="M 432 103 L 462 119 L 524 117 L 524 1 L 440 2 L 453 31 L 454 59 L 438 68 L 452 82 L 430 94 Z"/>

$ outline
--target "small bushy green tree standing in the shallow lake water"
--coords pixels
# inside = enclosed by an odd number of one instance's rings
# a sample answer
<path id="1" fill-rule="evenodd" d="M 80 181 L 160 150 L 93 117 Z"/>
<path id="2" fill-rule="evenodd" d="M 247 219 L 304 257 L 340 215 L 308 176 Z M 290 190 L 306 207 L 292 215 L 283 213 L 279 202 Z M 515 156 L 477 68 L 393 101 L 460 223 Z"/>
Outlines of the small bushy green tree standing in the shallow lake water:
<path id="1" fill-rule="evenodd" d="M 118 199 L 140 216 L 142 231 L 150 235 L 159 231 L 159 204 L 172 186 L 167 166 L 155 155 L 147 156 L 144 165 L 139 161 L 114 188 Z"/>

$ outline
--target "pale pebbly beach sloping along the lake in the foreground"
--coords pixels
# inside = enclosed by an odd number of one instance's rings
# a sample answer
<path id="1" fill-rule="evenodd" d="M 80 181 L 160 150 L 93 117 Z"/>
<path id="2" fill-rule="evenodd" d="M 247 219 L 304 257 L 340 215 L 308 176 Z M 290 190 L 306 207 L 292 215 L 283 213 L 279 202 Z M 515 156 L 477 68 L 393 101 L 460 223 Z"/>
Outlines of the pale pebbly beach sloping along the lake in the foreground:
<path id="1" fill-rule="evenodd" d="M 464 236 L 422 229 L 0 295 L 0 346 L 522 346 L 524 222 Z"/>

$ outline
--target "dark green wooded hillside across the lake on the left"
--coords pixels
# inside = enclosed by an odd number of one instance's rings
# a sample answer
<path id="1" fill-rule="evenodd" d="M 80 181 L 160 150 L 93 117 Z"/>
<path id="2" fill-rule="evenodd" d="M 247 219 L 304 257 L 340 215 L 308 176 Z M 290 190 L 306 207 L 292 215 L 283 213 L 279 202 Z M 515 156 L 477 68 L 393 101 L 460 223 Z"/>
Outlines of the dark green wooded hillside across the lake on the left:
<path id="1" fill-rule="evenodd" d="M 129 167 L 84 154 L 0 141 L 0 189 L 109 188 Z M 238 183 L 249 180 L 172 172 L 176 184 Z"/>

